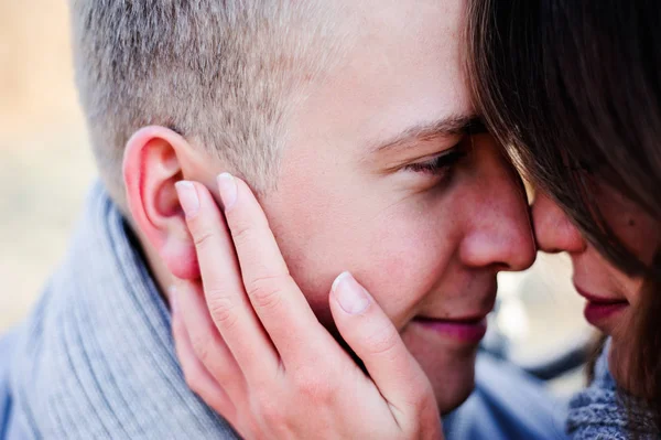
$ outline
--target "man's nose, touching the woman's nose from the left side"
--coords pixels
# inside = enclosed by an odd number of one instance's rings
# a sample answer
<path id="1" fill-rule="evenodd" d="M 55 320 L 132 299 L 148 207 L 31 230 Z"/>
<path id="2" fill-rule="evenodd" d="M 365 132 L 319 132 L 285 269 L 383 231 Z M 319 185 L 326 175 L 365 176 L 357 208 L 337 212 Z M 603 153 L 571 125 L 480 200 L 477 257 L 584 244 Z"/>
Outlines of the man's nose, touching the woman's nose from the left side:
<path id="1" fill-rule="evenodd" d="M 462 259 L 472 267 L 528 269 L 534 262 L 537 248 L 524 191 L 518 183 L 507 182 L 485 193 L 462 243 Z"/>

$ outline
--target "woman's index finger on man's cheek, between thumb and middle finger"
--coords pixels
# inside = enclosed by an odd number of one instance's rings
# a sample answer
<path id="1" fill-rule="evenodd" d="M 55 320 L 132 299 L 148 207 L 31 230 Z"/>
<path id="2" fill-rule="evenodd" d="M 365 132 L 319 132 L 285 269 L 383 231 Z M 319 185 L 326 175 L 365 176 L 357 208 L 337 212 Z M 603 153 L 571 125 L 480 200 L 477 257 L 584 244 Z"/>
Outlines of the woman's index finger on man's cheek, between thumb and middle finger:
<path id="1" fill-rule="evenodd" d="M 289 273 L 269 222 L 252 191 L 230 174 L 218 176 L 225 217 L 241 267 L 243 286 L 282 362 L 299 365 L 319 352 L 339 351 L 319 325 Z M 340 353 L 342 354 L 342 353 Z"/>

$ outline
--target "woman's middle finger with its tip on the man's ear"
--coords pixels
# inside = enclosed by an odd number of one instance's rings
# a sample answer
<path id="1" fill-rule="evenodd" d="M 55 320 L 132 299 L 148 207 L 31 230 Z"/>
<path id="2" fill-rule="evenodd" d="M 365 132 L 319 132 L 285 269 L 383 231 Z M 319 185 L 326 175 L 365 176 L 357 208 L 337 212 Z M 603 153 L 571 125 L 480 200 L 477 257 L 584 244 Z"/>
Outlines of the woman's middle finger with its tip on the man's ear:
<path id="1" fill-rule="evenodd" d="M 215 326 L 247 378 L 273 374 L 280 359 L 246 297 L 234 245 L 216 202 L 196 182 L 177 182 L 176 191 L 195 242 Z"/>

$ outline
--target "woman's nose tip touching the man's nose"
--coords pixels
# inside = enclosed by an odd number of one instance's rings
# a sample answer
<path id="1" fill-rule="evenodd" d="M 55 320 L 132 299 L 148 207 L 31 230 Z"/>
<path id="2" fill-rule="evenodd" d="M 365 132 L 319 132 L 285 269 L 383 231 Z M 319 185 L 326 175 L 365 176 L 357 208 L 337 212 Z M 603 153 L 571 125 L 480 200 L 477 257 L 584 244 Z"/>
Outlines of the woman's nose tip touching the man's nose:
<path id="1" fill-rule="evenodd" d="M 546 194 L 538 193 L 532 204 L 534 235 L 540 250 L 570 254 L 585 249 L 585 240 L 562 208 Z"/>

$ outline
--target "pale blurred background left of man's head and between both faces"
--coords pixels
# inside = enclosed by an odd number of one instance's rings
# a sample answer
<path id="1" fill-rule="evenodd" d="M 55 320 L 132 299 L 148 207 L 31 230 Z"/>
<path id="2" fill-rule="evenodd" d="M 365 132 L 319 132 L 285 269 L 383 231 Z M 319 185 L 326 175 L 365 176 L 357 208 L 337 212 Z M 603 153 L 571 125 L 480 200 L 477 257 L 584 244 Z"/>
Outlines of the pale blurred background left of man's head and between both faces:
<path id="1" fill-rule="evenodd" d="M 67 2 L 0 0 L 0 333 L 26 315 L 62 259 L 94 175 Z M 501 277 L 494 324 L 514 357 L 544 356 L 585 334 L 570 273 L 566 259 L 543 256 L 528 272 Z"/>

